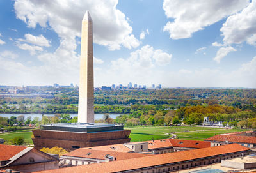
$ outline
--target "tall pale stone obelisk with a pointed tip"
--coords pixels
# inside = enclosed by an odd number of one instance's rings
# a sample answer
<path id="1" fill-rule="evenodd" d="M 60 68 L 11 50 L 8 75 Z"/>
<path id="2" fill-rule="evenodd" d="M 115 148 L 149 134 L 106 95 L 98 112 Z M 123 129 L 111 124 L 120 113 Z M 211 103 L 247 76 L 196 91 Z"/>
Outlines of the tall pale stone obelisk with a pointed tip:
<path id="1" fill-rule="evenodd" d="M 89 11 L 82 20 L 78 123 L 94 122 L 93 27 Z"/>

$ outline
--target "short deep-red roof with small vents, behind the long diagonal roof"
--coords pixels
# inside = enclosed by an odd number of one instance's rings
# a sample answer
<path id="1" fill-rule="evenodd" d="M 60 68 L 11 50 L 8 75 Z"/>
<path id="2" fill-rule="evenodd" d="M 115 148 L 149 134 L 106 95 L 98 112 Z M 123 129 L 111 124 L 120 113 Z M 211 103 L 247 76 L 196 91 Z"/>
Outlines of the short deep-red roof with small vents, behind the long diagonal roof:
<path id="1" fill-rule="evenodd" d="M 211 142 L 198 140 L 169 139 L 173 147 L 204 148 L 211 147 Z"/>

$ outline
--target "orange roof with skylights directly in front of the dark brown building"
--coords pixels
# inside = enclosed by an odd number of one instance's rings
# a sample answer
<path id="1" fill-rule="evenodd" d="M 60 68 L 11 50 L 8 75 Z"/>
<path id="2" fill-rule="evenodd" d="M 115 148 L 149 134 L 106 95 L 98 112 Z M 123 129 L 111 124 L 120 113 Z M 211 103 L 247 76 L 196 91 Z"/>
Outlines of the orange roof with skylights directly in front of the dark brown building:
<path id="1" fill-rule="evenodd" d="M 116 158 L 116 160 L 124 160 L 129 158 L 138 158 L 145 157 L 148 154 L 138 154 L 138 153 L 124 153 L 124 152 L 116 152 L 116 151 L 100 151 L 94 149 L 86 149 L 80 148 L 75 151 L 71 151 L 70 153 L 64 154 L 63 156 L 74 156 L 80 158 L 96 158 L 101 160 L 106 160 L 106 155 L 112 156 Z"/>

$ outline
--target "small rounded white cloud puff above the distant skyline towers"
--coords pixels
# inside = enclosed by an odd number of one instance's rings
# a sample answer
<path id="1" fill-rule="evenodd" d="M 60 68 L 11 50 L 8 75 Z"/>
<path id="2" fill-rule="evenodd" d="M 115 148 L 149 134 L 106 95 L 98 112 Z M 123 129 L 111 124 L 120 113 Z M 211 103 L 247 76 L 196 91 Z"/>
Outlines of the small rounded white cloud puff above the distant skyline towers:
<path id="1" fill-rule="evenodd" d="M 172 54 L 168 54 L 166 52 L 163 52 L 160 49 L 157 49 L 154 52 L 154 56 L 153 59 L 156 60 L 156 64 L 159 66 L 166 66 L 167 64 L 170 63 L 171 59 L 172 59 Z"/>

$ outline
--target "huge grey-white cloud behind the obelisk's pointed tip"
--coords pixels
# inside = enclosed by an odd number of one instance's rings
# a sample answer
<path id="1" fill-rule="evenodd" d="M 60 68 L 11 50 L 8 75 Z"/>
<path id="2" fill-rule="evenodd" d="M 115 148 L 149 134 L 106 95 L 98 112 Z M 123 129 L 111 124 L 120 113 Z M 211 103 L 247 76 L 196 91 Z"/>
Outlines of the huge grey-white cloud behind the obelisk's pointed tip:
<path id="1" fill-rule="evenodd" d="M 120 45 L 131 49 L 138 47 L 132 35 L 132 27 L 124 13 L 116 9 L 118 0 L 104 1 L 32 1 L 16 0 L 14 4 L 17 18 L 28 27 L 52 27 L 61 37 L 75 39 L 81 35 L 81 20 L 86 10 L 93 19 L 93 41 L 111 50 Z M 129 43 L 131 41 L 131 43 Z"/>

